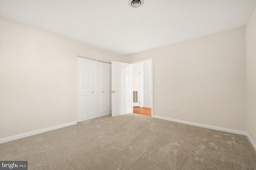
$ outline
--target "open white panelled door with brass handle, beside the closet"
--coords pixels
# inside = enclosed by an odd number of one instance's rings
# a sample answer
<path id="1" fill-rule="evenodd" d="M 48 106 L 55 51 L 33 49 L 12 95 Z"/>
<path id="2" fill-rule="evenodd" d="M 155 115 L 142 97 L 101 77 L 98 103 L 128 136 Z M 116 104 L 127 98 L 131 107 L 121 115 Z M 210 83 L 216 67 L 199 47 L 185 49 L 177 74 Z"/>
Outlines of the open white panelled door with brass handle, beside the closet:
<path id="1" fill-rule="evenodd" d="M 112 117 L 132 113 L 132 64 L 112 61 Z"/>

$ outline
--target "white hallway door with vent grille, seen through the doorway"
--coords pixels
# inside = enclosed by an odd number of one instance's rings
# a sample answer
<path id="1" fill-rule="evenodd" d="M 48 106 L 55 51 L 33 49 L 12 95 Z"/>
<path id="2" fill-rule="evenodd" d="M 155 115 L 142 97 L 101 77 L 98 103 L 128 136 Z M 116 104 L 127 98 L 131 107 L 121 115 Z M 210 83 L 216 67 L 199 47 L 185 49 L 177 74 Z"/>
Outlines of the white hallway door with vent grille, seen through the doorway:
<path id="1" fill-rule="evenodd" d="M 132 97 L 133 97 L 133 107 L 140 106 L 140 69 L 132 69 Z"/>

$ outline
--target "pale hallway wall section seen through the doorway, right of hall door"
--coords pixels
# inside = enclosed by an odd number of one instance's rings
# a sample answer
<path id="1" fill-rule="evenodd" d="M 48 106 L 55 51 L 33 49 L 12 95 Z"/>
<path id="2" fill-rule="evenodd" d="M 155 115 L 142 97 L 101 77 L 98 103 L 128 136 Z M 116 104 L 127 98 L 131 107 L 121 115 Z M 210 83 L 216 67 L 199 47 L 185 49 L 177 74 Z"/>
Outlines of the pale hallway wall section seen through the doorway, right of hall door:
<path id="1" fill-rule="evenodd" d="M 146 61 L 143 63 L 143 72 L 144 106 L 151 107 L 151 61 Z"/>

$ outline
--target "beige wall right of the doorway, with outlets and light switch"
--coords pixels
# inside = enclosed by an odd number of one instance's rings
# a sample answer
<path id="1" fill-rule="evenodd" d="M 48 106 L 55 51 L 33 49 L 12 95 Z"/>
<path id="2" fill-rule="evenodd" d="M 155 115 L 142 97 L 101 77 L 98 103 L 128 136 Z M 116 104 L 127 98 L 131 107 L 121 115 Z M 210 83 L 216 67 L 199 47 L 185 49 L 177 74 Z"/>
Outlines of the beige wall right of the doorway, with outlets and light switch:
<path id="1" fill-rule="evenodd" d="M 245 27 L 128 58 L 153 58 L 154 115 L 246 131 Z"/>

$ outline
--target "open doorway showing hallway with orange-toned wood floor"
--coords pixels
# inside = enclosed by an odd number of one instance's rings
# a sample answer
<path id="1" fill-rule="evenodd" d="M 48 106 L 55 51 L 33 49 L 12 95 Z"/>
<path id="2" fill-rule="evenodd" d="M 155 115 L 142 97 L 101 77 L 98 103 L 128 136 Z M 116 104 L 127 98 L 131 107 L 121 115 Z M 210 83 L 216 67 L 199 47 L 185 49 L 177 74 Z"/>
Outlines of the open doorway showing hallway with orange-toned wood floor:
<path id="1" fill-rule="evenodd" d="M 133 113 L 152 117 L 152 59 L 132 63 Z"/>

